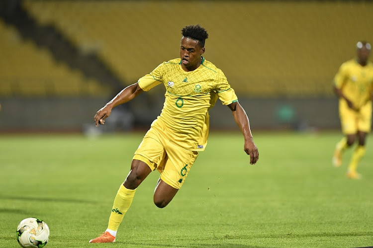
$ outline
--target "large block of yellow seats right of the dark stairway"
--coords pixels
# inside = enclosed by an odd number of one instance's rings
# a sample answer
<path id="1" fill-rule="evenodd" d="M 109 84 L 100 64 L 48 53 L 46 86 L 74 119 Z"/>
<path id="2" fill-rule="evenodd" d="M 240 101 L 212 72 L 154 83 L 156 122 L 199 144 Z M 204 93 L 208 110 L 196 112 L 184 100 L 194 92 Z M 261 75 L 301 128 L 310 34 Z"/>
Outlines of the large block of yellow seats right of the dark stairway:
<path id="1" fill-rule="evenodd" d="M 123 82 L 177 58 L 181 27 L 200 23 L 210 33 L 206 59 L 247 96 L 331 95 L 333 76 L 354 57 L 357 40 L 373 42 L 372 2 L 25 0 L 23 6 L 82 51 L 97 52 Z"/>

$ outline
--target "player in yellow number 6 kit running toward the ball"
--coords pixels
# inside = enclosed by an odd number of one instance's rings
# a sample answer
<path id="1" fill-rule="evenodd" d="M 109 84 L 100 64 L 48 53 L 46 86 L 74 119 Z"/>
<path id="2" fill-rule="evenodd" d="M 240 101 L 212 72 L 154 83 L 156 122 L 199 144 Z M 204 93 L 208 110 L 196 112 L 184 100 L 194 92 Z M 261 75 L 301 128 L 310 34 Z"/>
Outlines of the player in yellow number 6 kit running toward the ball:
<path id="1" fill-rule="evenodd" d="M 184 184 L 198 153 L 206 148 L 208 110 L 217 98 L 232 111 L 244 136 L 244 151 L 250 156 L 250 164 L 254 165 L 259 159 L 249 119 L 233 88 L 223 72 L 202 57 L 207 31 L 199 24 L 189 25 L 182 29 L 182 35 L 179 59 L 162 63 L 137 83 L 120 91 L 94 116 L 96 126 L 104 124 L 113 107 L 158 84 L 166 88 L 162 112 L 135 152 L 130 172 L 114 199 L 108 228 L 90 243 L 115 242 L 119 224 L 131 205 L 136 188 L 152 170 L 157 169 L 161 174 L 154 192 L 155 205 L 164 208 L 170 203 Z"/>

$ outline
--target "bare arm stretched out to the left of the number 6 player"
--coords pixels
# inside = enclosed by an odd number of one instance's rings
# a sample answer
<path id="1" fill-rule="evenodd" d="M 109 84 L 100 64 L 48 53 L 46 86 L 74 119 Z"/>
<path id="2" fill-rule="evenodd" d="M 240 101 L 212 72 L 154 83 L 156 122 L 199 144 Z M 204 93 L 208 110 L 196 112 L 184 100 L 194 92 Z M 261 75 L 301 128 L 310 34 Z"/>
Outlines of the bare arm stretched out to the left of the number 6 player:
<path id="1" fill-rule="evenodd" d="M 144 90 L 139 86 L 139 83 L 134 83 L 124 88 L 111 101 L 106 103 L 105 106 L 98 110 L 97 113 L 94 115 L 94 121 L 96 123 L 96 126 L 98 126 L 98 124 L 103 125 L 105 123 L 105 119 L 109 117 L 111 109 L 113 107 L 116 107 L 120 104 L 132 100 L 142 92 L 144 92 Z"/>

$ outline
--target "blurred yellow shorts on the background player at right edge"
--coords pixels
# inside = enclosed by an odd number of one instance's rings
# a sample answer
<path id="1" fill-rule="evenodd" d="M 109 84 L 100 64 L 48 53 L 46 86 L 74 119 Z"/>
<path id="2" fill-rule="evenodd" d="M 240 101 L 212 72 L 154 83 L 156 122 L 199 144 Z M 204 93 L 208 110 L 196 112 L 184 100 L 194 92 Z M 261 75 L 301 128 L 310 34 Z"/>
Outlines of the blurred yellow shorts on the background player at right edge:
<path id="1" fill-rule="evenodd" d="M 344 134 L 356 134 L 358 131 L 369 133 L 372 127 L 372 103 L 365 104 L 360 111 L 354 111 L 345 102 L 340 102 L 339 117 Z"/>

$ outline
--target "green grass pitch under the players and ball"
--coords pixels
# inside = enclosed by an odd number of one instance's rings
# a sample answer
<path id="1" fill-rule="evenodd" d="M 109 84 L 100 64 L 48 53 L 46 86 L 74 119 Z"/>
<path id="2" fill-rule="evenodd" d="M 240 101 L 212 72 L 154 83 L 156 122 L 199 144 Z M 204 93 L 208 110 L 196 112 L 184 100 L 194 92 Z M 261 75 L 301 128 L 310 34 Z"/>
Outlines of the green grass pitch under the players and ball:
<path id="1" fill-rule="evenodd" d="M 373 146 L 361 180 L 331 165 L 342 135 L 254 133 L 250 165 L 242 135 L 212 132 L 186 183 L 164 209 L 153 204 L 157 171 L 137 189 L 115 244 L 88 244 L 107 227 L 112 202 L 144 133 L 0 136 L 0 247 L 18 247 L 27 217 L 50 228 L 47 248 L 373 246 Z"/>

